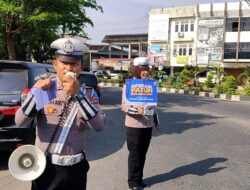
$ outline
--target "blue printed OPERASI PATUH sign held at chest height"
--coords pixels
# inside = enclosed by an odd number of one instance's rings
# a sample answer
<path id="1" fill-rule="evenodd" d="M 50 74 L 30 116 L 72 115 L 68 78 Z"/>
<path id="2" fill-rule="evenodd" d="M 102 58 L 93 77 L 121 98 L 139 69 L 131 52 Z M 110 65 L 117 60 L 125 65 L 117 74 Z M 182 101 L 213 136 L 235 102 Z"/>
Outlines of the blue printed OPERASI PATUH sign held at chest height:
<path id="1" fill-rule="evenodd" d="M 126 104 L 157 105 L 157 81 L 127 79 Z"/>

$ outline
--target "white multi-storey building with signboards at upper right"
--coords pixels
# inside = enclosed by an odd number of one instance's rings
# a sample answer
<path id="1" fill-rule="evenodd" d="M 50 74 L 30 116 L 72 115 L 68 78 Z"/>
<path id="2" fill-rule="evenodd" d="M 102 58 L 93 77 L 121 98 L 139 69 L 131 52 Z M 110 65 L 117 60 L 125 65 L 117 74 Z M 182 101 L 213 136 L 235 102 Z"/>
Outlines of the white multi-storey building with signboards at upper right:
<path id="1" fill-rule="evenodd" d="M 247 1 L 151 9 L 148 55 L 169 67 L 220 65 L 238 76 L 250 66 L 250 5 Z"/>

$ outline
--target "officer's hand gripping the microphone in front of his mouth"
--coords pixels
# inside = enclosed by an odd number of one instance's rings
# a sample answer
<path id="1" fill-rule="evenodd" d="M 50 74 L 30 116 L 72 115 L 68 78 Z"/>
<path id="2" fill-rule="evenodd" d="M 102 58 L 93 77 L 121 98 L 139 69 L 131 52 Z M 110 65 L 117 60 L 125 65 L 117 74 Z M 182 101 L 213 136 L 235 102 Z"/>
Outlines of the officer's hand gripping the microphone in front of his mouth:
<path id="1" fill-rule="evenodd" d="M 63 90 L 70 96 L 74 96 L 80 90 L 78 81 L 67 75 L 64 75 L 62 79 L 62 86 Z"/>

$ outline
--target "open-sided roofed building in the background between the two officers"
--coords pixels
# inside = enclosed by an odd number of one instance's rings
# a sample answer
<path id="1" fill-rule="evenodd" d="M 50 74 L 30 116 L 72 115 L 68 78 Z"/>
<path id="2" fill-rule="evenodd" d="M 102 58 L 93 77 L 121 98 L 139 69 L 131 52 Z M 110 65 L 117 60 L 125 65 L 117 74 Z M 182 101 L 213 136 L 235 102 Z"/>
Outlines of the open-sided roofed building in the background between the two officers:
<path id="1" fill-rule="evenodd" d="M 133 59 L 146 56 L 148 34 L 105 35 L 107 45 L 89 45 L 89 70 L 128 71 Z"/>

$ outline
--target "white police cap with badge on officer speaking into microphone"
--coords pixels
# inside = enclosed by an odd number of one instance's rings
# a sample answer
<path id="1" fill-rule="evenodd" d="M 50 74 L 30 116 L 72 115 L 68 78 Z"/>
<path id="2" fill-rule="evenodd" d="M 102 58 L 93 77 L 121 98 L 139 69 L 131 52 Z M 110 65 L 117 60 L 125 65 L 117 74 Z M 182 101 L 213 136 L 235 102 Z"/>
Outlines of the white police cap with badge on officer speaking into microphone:
<path id="1" fill-rule="evenodd" d="M 69 56 L 82 56 L 88 53 L 88 47 L 79 39 L 74 37 L 59 38 L 50 44 L 50 47 L 56 49 L 56 53 Z"/>

